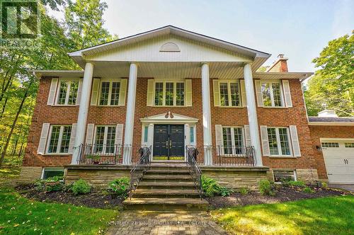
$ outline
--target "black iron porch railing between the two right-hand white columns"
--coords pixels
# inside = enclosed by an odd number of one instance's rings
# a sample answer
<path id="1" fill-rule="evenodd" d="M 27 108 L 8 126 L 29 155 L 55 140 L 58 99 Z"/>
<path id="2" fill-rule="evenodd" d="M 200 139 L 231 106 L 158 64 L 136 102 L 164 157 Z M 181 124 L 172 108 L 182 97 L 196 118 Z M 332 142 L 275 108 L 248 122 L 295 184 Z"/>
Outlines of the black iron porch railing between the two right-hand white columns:
<path id="1" fill-rule="evenodd" d="M 255 166 L 255 150 L 253 146 L 249 147 L 227 147 L 218 145 L 215 149 L 217 163 L 219 166 Z"/>

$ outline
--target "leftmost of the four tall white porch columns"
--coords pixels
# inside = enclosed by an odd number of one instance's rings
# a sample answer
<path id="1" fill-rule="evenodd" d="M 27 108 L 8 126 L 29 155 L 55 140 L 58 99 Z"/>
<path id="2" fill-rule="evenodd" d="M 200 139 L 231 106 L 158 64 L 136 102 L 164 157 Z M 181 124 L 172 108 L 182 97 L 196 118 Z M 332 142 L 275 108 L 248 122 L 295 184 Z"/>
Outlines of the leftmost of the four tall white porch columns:
<path id="1" fill-rule="evenodd" d="M 82 83 L 81 100 L 79 106 L 79 115 L 77 117 L 76 137 L 74 150 L 72 154 L 72 164 L 79 164 L 80 144 L 84 144 L 85 132 L 86 132 L 86 120 L 89 113 L 90 94 L 92 85 L 93 64 L 86 62 L 84 81 Z"/>

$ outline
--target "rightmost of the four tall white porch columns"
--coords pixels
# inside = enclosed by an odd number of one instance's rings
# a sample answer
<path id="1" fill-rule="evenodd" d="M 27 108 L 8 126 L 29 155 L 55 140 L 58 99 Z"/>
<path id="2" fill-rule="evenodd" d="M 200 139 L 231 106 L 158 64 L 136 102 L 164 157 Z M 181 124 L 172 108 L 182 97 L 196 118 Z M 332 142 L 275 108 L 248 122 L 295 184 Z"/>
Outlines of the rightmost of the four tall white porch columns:
<path id="1" fill-rule="evenodd" d="M 249 132 L 251 145 L 256 151 L 256 166 L 263 166 L 261 154 L 261 142 L 259 141 L 256 99 L 254 98 L 253 77 L 251 64 L 244 65 L 244 83 L 246 87 L 247 113 L 249 115 Z"/>

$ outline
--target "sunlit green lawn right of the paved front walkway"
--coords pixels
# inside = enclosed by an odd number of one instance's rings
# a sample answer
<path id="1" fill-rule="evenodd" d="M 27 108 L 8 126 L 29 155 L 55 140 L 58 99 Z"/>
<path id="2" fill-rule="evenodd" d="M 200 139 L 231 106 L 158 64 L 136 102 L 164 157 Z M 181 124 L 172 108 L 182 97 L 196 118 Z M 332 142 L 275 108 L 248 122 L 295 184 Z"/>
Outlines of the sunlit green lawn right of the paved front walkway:
<path id="1" fill-rule="evenodd" d="M 354 234 L 354 196 L 212 211 L 232 234 Z"/>

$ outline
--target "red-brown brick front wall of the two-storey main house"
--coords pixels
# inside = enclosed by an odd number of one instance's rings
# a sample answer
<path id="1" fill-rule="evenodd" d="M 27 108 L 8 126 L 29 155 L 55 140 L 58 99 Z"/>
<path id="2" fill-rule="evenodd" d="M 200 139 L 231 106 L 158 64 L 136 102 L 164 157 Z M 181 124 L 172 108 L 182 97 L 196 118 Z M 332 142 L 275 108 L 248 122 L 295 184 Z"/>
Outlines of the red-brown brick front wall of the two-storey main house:
<path id="1" fill-rule="evenodd" d="M 50 78 L 40 79 L 37 103 L 33 115 L 33 122 L 28 137 L 23 166 L 64 166 L 70 164 L 71 156 L 40 156 L 37 154 L 40 132 L 43 122 L 51 124 L 72 124 L 76 122 L 79 107 L 52 107 L 47 105 L 50 89 Z M 306 111 L 302 98 L 301 84 L 298 80 L 289 80 L 293 108 L 257 108 L 258 125 L 289 126 L 296 125 L 302 156 L 296 159 L 275 159 L 263 157 L 263 165 L 270 168 L 314 168 L 314 152 L 312 139 L 307 125 Z M 139 145 L 142 137 L 142 122 L 140 118 L 160 113 L 178 113 L 199 119 L 196 125 L 197 142 L 202 145 L 202 91 L 201 79 L 192 79 L 193 106 L 183 108 L 150 107 L 147 106 L 147 78 L 137 79 L 137 100 L 135 106 L 135 124 L 133 143 Z M 219 108 L 214 106 L 210 79 L 210 100 L 212 114 L 212 144 L 215 145 L 215 125 L 243 126 L 248 124 L 246 108 Z M 96 125 L 125 124 L 126 105 L 123 107 L 89 107 L 87 123 Z M 123 135 L 124 137 L 124 135 Z M 124 142 L 124 139 L 123 139 Z M 216 158 L 216 156 L 215 156 Z M 214 159 L 216 162 L 217 159 Z"/>

